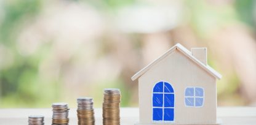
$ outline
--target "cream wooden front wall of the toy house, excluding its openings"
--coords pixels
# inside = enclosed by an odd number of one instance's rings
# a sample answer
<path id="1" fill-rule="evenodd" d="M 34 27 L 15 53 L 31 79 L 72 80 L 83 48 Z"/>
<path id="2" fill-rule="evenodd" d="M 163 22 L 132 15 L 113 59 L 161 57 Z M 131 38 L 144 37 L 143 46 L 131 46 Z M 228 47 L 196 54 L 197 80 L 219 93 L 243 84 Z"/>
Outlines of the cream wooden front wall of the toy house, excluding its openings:
<path id="1" fill-rule="evenodd" d="M 216 123 L 216 78 L 175 50 L 138 78 L 140 124 L 152 123 L 152 89 L 158 81 L 167 81 L 174 88 L 174 123 Z M 204 106 L 185 107 L 185 88 L 204 88 Z"/>

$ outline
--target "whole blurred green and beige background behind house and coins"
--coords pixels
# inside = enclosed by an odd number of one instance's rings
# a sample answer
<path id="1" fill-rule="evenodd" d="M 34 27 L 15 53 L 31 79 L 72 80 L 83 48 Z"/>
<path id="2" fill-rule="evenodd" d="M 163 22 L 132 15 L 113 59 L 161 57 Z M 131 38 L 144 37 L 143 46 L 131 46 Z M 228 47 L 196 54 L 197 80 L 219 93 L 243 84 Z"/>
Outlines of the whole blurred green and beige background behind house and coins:
<path id="1" fill-rule="evenodd" d="M 256 105 L 256 2 L 252 0 L 0 0 L 0 108 L 50 107 L 120 88 L 177 44 L 207 47 L 223 78 L 218 105 Z"/>

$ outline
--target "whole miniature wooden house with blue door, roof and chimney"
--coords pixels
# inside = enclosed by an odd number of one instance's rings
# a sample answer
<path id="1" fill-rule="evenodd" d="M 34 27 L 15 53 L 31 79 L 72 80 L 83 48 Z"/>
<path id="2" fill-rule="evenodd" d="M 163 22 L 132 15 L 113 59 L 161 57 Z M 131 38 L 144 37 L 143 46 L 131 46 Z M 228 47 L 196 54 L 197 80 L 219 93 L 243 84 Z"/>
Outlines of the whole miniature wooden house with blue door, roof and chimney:
<path id="1" fill-rule="evenodd" d="M 216 80 L 207 48 L 170 48 L 137 72 L 140 121 L 137 124 L 220 124 Z"/>

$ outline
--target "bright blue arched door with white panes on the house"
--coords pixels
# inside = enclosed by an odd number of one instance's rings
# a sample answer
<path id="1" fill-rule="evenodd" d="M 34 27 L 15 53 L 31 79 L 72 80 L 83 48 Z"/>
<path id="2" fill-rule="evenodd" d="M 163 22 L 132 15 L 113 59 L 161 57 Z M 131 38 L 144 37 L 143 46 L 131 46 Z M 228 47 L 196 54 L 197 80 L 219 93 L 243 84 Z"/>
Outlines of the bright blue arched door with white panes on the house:
<path id="1" fill-rule="evenodd" d="M 168 123 L 174 121 L 174 89 L 167 82 L 160 81 L 153 88 L 153 122 Z"/>

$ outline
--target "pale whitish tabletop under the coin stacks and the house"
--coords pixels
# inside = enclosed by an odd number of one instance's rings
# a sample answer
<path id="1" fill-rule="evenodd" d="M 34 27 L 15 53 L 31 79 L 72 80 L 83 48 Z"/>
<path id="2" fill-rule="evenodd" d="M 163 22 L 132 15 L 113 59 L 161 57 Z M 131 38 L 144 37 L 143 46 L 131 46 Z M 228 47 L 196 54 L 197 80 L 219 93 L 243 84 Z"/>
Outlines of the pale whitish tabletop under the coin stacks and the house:
<path id="1" fill-rule="evenodd" d="M 51 108 L 2 108 L 0 124 L 28 124 L 29 115 L 44 115 L 45 124 L 51 124 Z M 138 122 L 138 108 L 121 108 L 121 124 L 132 125 Z M 217 117 L 223 125 L 256 124 L 256 107 L 218 107 Z M 102 109 L 95 108 L 96 124 L 102 124 Z M 76 108 L 70 109 L 70 125 L 77 124 Z"/>

